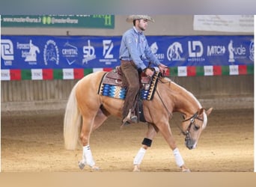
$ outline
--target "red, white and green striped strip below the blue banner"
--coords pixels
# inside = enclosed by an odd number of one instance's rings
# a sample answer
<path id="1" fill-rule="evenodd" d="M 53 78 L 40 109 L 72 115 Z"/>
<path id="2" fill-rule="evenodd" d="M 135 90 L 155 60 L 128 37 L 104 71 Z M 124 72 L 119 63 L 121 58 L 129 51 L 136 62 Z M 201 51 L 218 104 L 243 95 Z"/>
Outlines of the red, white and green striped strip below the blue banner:
<path id="1" fill-rule="evenodd" d="M 31 69 L 1 70 L 1 81 L 82 79 L 97 71 L 111 71 L 112 68 L 93 69 Z M 238 76 L 254 74 L 254 65 L 169 67 L 165 76 Z"/>

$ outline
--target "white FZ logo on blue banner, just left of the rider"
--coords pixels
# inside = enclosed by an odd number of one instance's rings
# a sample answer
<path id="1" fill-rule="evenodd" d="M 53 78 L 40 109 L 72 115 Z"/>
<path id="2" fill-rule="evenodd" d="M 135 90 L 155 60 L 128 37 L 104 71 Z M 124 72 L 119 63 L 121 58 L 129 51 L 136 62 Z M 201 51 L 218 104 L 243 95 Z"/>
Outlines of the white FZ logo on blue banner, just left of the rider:
<path id="1" fill-rule="evenodd" d="M 114 43 L 112 40 L 103 40 L 103 57 L 100 62 L 104 62 L 106 65 L 111 65 L 112 62 L 117 62 L 118 60 L 114 58 L 112 50 L 114 48 Z"/>

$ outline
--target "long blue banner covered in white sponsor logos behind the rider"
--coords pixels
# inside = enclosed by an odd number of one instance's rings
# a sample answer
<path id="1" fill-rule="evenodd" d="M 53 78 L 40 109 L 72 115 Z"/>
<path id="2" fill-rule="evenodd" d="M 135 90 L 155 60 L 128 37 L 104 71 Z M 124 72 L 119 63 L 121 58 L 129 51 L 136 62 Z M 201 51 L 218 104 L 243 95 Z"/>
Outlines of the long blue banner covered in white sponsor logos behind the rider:
<path id="1" fill-rule="evenodd" d="M 168 67 L 254 64 L 254 36 L 147 36 Z M 121 36 L 1 36 L 1 69 L 112 68 Z"/>

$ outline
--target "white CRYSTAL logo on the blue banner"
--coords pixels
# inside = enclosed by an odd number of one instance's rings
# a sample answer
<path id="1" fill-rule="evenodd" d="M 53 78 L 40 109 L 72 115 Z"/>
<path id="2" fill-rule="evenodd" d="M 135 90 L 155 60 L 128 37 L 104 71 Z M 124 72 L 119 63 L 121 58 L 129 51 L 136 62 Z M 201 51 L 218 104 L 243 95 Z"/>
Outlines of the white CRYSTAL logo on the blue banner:
<path id="1" fill-rule="evenodd" d="M 61 53 L 63 57 L 66 58 L 67 64 L 69 65 L 75 63 L 79 55 L 77 47 L 68 42 L 64 44 L 64 48 L 61 49 Z"/>

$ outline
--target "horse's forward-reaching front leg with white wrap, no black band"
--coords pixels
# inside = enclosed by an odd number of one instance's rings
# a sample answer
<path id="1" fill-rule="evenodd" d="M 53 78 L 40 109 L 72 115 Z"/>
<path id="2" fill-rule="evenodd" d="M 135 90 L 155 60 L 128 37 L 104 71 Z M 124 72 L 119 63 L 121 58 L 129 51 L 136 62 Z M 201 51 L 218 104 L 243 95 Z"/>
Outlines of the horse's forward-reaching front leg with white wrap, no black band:
<path id="1" fill-rule="evenodd" d="M 189 168 L 186 167 L 185 162 L 183 161 L 183 158 L 180 155 L 180 151 L 177 148 L 174 137 L 171 134 L 171 128 L 169 123 L 161 123 L 161 125 L 158 125 L 158 128 L 159 128 L 159 131 L 162 133 L 163 137 L 165 138 L 165 141 L 167 141 L 169 147 L 171 147 L 177 166 L 181 169 L 181 171 L 189 172 L 190 170 Z"/>

